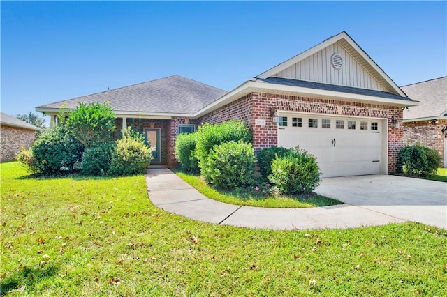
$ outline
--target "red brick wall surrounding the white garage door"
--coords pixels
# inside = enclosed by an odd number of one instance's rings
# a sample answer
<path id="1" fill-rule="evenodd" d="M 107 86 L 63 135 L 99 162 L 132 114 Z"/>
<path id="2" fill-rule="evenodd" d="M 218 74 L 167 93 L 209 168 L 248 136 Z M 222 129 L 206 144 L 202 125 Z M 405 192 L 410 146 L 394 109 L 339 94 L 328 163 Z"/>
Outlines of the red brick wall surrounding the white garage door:
<path id="1" fill-rule="evenodd" d="M 338 108 L 342 108 L 339 114 Z M 253 132 L 253 146 L 258 151 L 277 145 L 277 123 L 270 116 L 271 109 L 288 112 L 312 112 L 316 114 L 332 114 L 341 116 L 367 116 L 372 118 L 388 119 L 388 172 L 395 172 L 397 153 L 402 148 L 403 127 L 394 128 L 391 119 L 402 123 L 401 107 L 377 105 L 343 100 L 328 100 L 305 98 L 298 96 L 283 96 L 270 93 L 250 93 L 225 105 L 199 119 L 221 123 L 228 119 L 241 119 L 246 121 Z M 264 119 L 265 125 L 255 125 L 256 119 Z"/>

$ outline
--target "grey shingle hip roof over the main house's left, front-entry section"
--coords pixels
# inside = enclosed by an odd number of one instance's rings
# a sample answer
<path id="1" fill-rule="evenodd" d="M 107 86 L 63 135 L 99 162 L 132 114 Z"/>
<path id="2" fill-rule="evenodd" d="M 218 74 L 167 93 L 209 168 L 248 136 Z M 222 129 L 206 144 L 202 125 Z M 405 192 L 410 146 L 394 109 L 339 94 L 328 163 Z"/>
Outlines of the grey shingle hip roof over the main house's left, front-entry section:
<path id="1" fill-rule="evenodd" d="M 75 109 L 80 102 L 86 104 L 109 102 L 116 114 L 193 114 L 226 91 L 193 79 L 173 75 L 149 82 L 124 86 L 118 89 L 80 96 L 69 100 L 36 107 L 38 112 L 58 112 Z"/>

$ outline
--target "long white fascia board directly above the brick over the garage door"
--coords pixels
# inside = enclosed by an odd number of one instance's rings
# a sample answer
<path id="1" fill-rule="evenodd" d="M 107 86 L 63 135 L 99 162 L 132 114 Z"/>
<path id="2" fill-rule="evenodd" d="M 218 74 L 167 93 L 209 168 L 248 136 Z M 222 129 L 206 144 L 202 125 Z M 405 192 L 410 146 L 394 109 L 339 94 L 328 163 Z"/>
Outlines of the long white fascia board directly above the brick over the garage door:
<path id="1" fill-rule="evenodd" d="M 304 88 L 302 86 L 286 86 L 283 84 L 269 84 L 265 82 L 251 82 L 249 81 L 249 87 L 253 89 L 265 89 L 265 93 L 269 92 L 270 90 L 276 90 L 276 91 L 284 91 L 284 92 L 290 92 L 298 94 L 299 96 L 310 96 L 310 97 L 316 97 L 321 98 L 323 97 L 331 97 L 336 98 L 338 100 L 351 100 L 355 102 L 373 102 L 373 103 L 382 103 L 387 105 L 394 105 L 394 106 L 418 106 L 418 101 L 407 101 L 407 100 L 399 100 L 399 99 L 390 99 L 390 98 L 383 98 L 383 97 L 376 97 L 376 96 L 368 96 L 368 95 L 359 95 L 359 94 L 353 94 L 353 93 L 344 93 L 344 92 L 336 92 L 336 91 L 328 91 L 328 90 L 321 90 L 321 89 L 310 89 L 310 88 Z"/>

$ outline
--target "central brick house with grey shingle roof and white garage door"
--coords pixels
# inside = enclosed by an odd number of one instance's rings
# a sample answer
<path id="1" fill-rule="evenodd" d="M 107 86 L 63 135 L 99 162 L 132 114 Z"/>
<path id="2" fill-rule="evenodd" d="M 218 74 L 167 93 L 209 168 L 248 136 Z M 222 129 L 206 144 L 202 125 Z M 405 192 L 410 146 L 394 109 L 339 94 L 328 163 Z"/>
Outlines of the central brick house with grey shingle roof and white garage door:
<path id="1" fill-rule="evenodd" d="M 36 110 L 54 119 L 62 105 L 105 101 L 117 114 L 117 128 L 145 132 L 154 162 L 175 166 L 179 132 L 240 119 L 253 132 L 256 151 L 299 145 L 316 155 L 325 177 L 394 172 L 402 109 L 418 105 L 346 32 L 229 92 L 174 75 Z"/>

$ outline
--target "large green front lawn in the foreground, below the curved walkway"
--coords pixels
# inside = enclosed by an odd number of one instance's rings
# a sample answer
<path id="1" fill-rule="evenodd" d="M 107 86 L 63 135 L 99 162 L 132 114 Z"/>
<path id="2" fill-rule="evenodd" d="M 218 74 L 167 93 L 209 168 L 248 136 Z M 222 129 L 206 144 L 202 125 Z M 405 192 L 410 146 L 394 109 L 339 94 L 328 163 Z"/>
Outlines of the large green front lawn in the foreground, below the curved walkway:
<path id="1" fill-rule="evenodd" d="M 444 229 L 219 226 L 155 208 L 143 176 L 0 169 L 2 295 L 446 296 Z"/>

